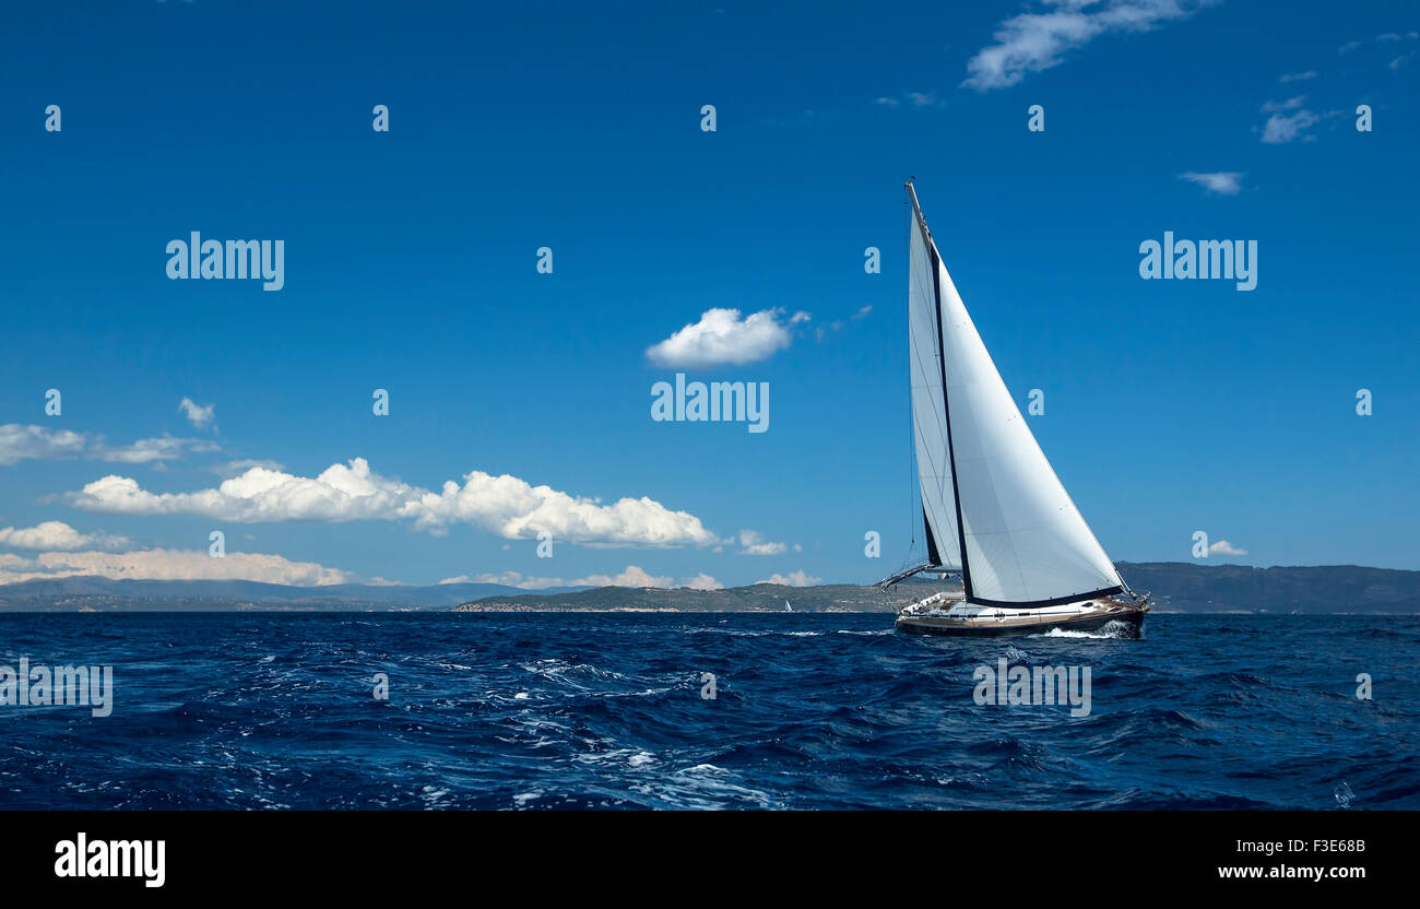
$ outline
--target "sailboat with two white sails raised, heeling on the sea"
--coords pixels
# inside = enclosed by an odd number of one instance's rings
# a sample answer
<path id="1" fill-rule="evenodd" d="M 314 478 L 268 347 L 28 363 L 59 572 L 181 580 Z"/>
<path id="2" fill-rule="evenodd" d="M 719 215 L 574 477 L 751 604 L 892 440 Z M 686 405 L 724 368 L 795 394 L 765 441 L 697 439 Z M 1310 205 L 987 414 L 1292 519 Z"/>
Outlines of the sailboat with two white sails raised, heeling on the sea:
<path id="1" fill-rule="evenodd" d="M 907 180 L 912 202 L 907 339 L 922 491 L 922 572 L 960 577 L 897 614 L 899 631 L 1028 635 L 1109 628 L 1139 636 L 1149 598 L 1125 584 L 1081 517 L 1007 391 L 961 303 Z"/>

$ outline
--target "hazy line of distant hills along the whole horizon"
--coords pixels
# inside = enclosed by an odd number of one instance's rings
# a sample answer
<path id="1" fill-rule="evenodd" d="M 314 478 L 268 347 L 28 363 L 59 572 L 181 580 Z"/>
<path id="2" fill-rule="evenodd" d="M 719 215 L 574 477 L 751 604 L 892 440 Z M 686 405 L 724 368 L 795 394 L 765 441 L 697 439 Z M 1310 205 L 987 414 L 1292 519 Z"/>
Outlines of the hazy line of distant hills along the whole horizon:
<path id="1" fill-rule="evenodd" d="M 1129 585 L 1152 592 L 1160 612 L 1420 614 L 1420 571 L 1359 565 L 1277 567 L 1197 562 L 1119 562 Z M 680 612 L 896 612 L 934 589 L 960 589 L 912 578 L 886 594 L 872 585 L 785 587 L 754 584 L 719 591 L 689 588 L 550 588 L 501 584 L 426 587 L 332 584 L 293 587 L 260 581 L 139 581 L 101 577 L 0 585 L 0 612 L 77 611 L 680 611 Z"/>

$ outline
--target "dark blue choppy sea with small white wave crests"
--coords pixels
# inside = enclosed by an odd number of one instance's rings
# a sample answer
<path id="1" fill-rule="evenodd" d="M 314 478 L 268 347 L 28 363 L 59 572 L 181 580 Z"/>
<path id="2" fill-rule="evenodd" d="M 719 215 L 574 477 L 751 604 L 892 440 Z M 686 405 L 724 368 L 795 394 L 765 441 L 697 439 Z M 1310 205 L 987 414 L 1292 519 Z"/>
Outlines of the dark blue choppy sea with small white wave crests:
<path id="1" fill-rule="evenodd" d="M 114 666 L 111 716 L 0 706 L 6 808 L 1420 808 L 1420 618 L 1150 615 L 1142 641 L 856 614 L 0 625 L 0 665 Z M 977 704 L 1001 658 L 1089 666 L 1091 713 Z"/>

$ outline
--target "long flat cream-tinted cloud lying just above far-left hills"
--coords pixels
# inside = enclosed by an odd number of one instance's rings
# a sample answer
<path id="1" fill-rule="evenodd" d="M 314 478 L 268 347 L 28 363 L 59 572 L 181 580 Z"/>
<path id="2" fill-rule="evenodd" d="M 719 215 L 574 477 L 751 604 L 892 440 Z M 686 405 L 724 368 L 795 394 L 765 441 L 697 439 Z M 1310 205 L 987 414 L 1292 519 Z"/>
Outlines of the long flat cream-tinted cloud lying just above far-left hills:
<path id="1" fill-rule="evenodd" d="M 224 558 L 213 558 L 206 550 L 43 553 L 34 558 L 0 555 L 0 584 L 84 575 L 146 581 L 266 581 L 297 587 L 348 581 L 348 575 L 337 568 L 293 562 L 263 553 L 227 553 Z"/>

